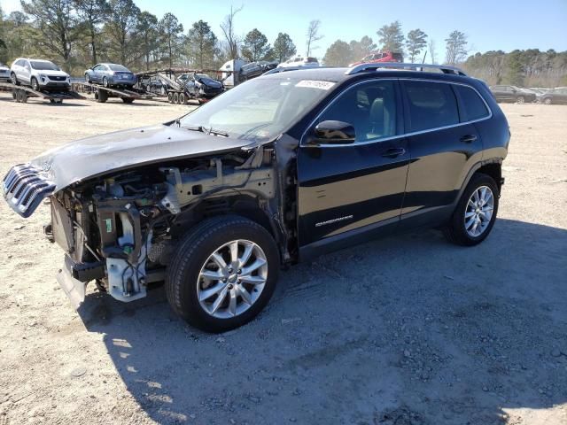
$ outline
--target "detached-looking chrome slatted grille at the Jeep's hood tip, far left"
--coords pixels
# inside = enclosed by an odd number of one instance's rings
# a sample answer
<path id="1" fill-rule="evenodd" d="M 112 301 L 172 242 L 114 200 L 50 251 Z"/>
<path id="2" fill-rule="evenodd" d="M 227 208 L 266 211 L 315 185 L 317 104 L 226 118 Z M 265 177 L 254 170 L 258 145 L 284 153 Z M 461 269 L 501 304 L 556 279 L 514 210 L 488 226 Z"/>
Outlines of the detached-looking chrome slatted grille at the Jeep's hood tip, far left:
<path id="1" fill-rule="evenodd" d="M 3 181 L 4 198 L 8 205 L 22 217 L 34 213 L 43 198 L 49 197 L 55 184 L 40 174 L 34 166 L 13 166 Z"/>

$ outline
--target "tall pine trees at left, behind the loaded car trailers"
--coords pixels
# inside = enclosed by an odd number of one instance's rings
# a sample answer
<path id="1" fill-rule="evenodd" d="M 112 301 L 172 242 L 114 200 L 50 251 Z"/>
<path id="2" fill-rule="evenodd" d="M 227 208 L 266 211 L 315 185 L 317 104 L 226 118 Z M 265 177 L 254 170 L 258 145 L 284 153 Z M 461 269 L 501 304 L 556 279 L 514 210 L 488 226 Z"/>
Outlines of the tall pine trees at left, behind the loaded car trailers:
<path id="1" fill-rule="evenodd" d="M 229 59 L 283 61 L 297 52 L 286 33 L 279 33 L 273 44 L 257 28 L 245 37 L 237 35 L 235 21 L 242 7 L 230 9 L 220 39 L 203 20 L 186 30 L 175 14 L 159 19 L 133 0 L 22 0 L 21 6 L 22 12 L 8 16 L 0 8 L 0 62 L 48 58 L 69 73 L 103 61 L 135 70 L 216 69 Z M 310 42 L 317 40 L 317 31 Z"/>

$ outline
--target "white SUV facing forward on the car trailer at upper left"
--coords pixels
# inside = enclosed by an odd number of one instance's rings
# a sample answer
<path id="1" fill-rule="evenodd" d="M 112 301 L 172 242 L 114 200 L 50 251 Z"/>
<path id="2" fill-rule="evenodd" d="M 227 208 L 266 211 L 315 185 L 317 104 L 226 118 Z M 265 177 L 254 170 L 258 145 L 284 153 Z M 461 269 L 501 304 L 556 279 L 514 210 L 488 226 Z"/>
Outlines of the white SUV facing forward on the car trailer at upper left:
<path id="1" fill-rule="evenodd" d="M 12 83 L 24 84 L 34 90 L 63 89 L 71 87 L 68 73 L 64 73 L 49 60 L 18 58 L 10 68 Z"/>

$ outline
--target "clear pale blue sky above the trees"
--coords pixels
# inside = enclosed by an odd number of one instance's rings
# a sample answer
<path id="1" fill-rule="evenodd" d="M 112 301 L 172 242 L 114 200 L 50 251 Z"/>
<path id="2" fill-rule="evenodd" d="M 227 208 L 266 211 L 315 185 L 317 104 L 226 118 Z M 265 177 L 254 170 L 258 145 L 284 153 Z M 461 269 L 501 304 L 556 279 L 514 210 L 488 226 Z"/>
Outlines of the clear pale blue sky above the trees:
<path id="1" fill-rule="evenodd" d="M 470 53 L 515 49 L 567 50 L 567 0 L 135 0 L 143 11 L 159 18 L 172 12 L 185 32 L 199 19 L 209 23 L 221 39 L 220 24 L 230 5 L 244 5 L 235 27 L 244 35 L 257 27 L 273 43 L 288 33 L 305 54 L 309 21 L 321 20 L 321 35 L 312 56 L 322 58 L 332 42 L 360 40 L 400 20 L 405 34 L 420 28 L 435 40 L 438 60 L 445 57 L 447 35 L 458 29 L 468 36 Z M 4 13 L 20 10 L 19 0 L 0 0 Z"/>

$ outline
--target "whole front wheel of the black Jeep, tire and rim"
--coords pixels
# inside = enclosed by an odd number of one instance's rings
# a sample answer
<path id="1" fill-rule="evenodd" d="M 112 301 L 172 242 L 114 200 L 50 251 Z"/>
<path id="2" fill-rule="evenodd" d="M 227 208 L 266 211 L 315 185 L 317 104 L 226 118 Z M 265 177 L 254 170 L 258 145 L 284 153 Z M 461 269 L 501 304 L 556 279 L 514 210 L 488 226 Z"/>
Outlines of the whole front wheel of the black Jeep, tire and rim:
<path id="1" fill-rule="evenodd" d="M 178 243 L 167 268 L 167 299 L 190 325 L 224 332 L 252 321 L 268 304 L 279 267 L 265 228 L 236 215 L 214 217 Z"/>

